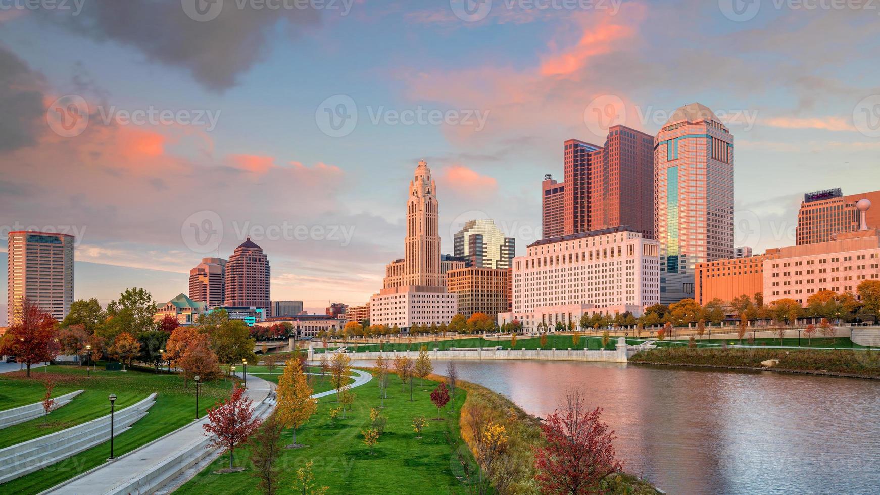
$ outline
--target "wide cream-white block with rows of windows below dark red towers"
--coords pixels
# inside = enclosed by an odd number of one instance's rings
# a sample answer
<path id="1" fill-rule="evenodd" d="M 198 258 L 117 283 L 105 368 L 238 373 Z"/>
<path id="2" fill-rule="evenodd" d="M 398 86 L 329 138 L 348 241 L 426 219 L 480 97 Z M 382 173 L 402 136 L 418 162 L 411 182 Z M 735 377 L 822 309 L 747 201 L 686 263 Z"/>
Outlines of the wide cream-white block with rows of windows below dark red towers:
<path id="1" fill-rule="evenodd" d="M 627 227 L 542 239 L 513 258 L 513 308 L 498 324 L 518 320 L 528 331 L 583 315 L 640 316 L 660 301 L 658 244 Z"/>

